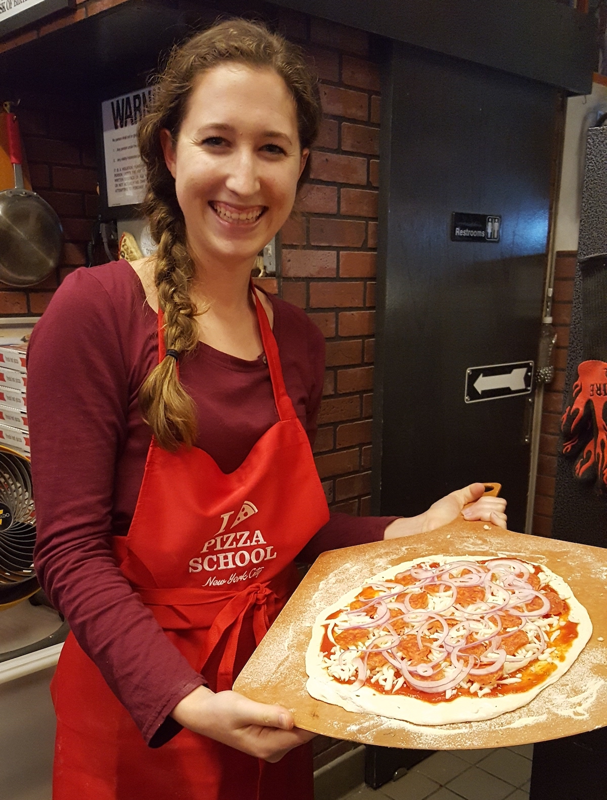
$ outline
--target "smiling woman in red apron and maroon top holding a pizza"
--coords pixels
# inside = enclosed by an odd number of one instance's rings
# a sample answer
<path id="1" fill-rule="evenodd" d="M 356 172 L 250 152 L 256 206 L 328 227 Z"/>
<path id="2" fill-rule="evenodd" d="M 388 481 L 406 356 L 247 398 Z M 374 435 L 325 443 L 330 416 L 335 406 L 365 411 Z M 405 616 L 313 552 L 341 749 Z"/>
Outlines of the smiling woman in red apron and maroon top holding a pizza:
<path id="1" fill-rule="evenodd" d="M 311 800 L 311 734 L 232 690 L 295 558 L 432 530 L 484 490 L 409 519 L 329 515 L 310 448 L 324 339 L 250 280 L 320 116 L 302 54 L 262 26 L 175 50 L 139 129 L 157 253 L 76 270 L 32 335 L 35 564 L 72 631 L 54 800 Z"/>

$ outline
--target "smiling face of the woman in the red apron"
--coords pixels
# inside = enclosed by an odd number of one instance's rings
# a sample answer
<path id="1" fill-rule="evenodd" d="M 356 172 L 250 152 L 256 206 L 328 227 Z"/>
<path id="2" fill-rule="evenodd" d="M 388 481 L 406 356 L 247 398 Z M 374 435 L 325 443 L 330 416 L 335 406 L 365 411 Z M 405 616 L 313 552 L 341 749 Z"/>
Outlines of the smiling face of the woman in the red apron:
<path id="1" fill-rule="evenodd" d="M 177 142 L 164 130 L 162 146 L 194 259 L 250 266 L 286 222 L 308 156 L 285 82 L 270 69 L 215 66 L 194 85 Z"/>

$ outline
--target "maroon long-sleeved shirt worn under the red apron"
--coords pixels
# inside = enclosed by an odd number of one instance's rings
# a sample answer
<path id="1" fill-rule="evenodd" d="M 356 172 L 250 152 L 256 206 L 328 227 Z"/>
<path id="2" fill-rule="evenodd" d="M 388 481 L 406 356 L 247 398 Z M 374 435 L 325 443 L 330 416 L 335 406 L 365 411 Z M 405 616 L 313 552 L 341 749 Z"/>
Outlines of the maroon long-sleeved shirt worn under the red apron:
<path id="1" fill-rule="evenodd" d="M 324 339 L 301 310 L 271 301 L 286 389 L 313 442 Z M 130 264 L 114 262 L 76 270 L 54 294 L 31 337 L 27 389 L 38 578 L 150 746 L 179 730 L 168 715 L 205 682 L 112 553 L 112 537 L 129 530 L 142 483 L 151 431 L 138 390 L 157 363 L 157 316 Z M 240 466 L 278 422 L 262 357 L 243 361 L 201 342 L 182 362 L 181 379 L 198 408 L 197 446 L 224 472 Z M 332 514 L 302 560 L 377 541 L 392 520 Z"/>

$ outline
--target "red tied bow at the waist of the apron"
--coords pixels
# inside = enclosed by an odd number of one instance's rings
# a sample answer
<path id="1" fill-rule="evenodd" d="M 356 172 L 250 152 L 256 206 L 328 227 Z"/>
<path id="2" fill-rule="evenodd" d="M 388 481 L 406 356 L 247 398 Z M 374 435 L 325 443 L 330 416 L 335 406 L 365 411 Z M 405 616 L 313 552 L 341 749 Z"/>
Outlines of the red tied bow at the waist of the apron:
<path id="1" fill-rule="evenodd" d="M 235 594 L 215 617 L 206 638 L 206 646 L 201 654 L 198 671 L 204 673 L 206 662 L 214 653 L 223 635 L 229 631 L 217 674 L 218 692 L 230 690 L 234 683 L 234 662 L 236 661 L 238 638 L 242 620 L 247 611 L 253 609 L 255 644 L 259 645 L 270 628 L 270 618 L 274 615 L 276 600 L 277 595 L 268 586 L 254 583 L 242 592 Z"/>

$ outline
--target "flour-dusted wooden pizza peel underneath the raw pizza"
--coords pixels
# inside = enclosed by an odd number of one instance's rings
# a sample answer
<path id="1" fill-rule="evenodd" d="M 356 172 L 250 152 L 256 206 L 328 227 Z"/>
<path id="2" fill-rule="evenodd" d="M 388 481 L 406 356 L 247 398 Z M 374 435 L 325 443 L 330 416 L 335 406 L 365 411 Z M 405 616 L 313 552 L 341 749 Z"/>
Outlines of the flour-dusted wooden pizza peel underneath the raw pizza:
<path id="1" fill-rule="evenodd" d="M 429 534 L 323 553 L 303 578 L 234 683 L 258 702 L 290 709 L 295 724 L 361 744 L 419 750 L 509 747 L 572 736 L 607 725 L 607 549 L 516 534 L 483 522 L 451 522 Z M 427 555 L 525 558 L 561 575 L 588 610 L 593 634 L 569 671 L 526 706 L 477 722 L 421 726 L 358 714 L 305 690 L 313 622 L 343 594 L 400 562 Z"/>

